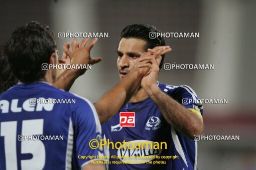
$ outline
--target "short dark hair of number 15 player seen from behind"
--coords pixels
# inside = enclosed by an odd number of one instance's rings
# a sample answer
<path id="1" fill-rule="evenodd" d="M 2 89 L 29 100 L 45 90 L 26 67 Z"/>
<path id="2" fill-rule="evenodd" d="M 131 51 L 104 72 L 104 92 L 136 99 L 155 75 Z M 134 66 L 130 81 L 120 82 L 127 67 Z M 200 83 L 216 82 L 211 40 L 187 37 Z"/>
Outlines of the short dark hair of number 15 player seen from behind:
<path id="1" fill-rule="evenodd" d="M 38 21 L 31 21 L 12 33 L 7 55 L 14 75 L 27 83 L 45 76 L 42 63 L 48 63 L 55 50 L 53 31 Z"/>

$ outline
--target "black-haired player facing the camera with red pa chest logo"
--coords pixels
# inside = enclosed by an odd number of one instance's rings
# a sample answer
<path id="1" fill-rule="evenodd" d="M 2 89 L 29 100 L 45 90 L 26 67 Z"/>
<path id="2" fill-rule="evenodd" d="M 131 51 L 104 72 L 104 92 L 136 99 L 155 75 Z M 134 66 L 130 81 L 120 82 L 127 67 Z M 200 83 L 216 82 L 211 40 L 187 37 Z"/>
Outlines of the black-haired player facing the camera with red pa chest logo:
<path id="1" fill-rule="evenodd" d="M 192 139 L 194 135 L 201 134 L 203 131 L 203 106 L 196 102 L 198 96 L 189 86 L 174 86 L 158 81 L 164 54 L 162 57 L 140 58 L 147 50 L 154 52 L 154 49 L 148 48 L 165 45 L 162 37 L 150 38 L 150 32 L 160 31 L 153 25 L 133 24 L 126 26 L 121 32 L 117 49 L 117 68 L 120 79 L 129 75 L 127 73 L 138 61 L 150 60 L 140 65 L 140 67 L 150 67 L 150 70 L 142 78 L 140 86 L 130 101 L 109 121 L 102 124 L 102 135 L 113 143 L 122 143 L 123 140 L 133 142 L 134 145 L 137 142 L 144 145 L 144 141 L 166 142 L 167 149 L 148 149 L 146 146 L 129 148 L 127 145 L 112 149 L 112 145 L 109 144 L 109 153 L 106 152 L 106 155 L 109 154 L 111 157 L 108 168 L 111 170 L 197 169 L 197 142 Z M 183 100 L 186 103 L 182 104 Z M 121 126 L 121 122 L 129 121 L 120 119 L 119 112 L 135 112 L 135 122 L 133 117 L 130 121 L 134 127 Z M 161 157 L 165 155 L 168 155 L 169 159 Z M 151 157 L 144 159 L 142 156 Z M 156 156 L 160 158 L 156 159 Z M 126 160 L 136 160 L 137 164 Z M 146 163 L 151 160 L 153 162 Z M 126 163 L 111 163 L 113 161 L 126 161 Z"/>

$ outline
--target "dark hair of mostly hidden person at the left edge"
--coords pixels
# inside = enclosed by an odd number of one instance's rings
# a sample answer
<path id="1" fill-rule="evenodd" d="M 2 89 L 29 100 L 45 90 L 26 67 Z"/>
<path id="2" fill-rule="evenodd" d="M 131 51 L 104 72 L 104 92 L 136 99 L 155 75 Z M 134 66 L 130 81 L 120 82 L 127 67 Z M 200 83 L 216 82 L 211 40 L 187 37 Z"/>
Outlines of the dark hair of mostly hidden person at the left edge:
<path id="1" fill-rule="evenodd" d="M 18 79 L 14 76 L 11 66 L 7 58 L 7 43 L 0 45 L 0 94 L 8 88 L 18 83 Z"/>

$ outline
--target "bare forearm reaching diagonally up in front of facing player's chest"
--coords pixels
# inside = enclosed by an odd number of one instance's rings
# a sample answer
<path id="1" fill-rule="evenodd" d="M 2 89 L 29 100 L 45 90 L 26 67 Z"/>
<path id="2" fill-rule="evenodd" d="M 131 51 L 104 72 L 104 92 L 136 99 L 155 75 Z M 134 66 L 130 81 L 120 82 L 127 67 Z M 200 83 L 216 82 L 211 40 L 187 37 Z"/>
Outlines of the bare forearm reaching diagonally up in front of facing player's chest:
<path id="1" fill-rule="evenodd" d="M 101 123 L 108 121 L 133 96 L 143 74 L 133 69 L 94 104 Z"/>

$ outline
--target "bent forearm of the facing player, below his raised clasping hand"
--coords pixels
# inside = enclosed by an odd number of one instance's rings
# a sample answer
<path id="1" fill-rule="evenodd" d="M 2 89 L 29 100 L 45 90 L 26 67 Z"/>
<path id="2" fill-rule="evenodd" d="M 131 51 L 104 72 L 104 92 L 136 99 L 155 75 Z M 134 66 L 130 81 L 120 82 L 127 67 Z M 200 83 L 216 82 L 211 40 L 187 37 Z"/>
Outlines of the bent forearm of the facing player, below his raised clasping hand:
<path id="1" fill-rule="evenodd" d="M 146 92 L 161 110 L 167 122 L 175 129 L 190 139 L 195 134 L 202 133 L 203 122 L 200 117 L 191 113 L 176 100 L 162 92 L 157 85 L 151 86 Z"/>

